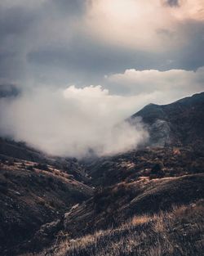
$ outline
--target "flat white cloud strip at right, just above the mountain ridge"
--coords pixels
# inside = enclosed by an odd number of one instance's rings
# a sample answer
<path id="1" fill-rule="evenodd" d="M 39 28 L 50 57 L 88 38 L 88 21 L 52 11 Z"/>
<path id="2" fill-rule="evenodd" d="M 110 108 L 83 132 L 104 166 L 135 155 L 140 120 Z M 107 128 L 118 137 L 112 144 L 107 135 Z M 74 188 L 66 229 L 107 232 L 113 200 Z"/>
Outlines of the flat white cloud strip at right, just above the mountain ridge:
<path id="1" fill-rule="evenodd" d="M 129 94 L 149 95 L 154 101 L 166 103 L 204 90 L 204 67 L 188 70 L 125 70 L 122 74 L 106 76 L 109 87 Z M 153 97 L 154 96 L 154 97 Z"/>

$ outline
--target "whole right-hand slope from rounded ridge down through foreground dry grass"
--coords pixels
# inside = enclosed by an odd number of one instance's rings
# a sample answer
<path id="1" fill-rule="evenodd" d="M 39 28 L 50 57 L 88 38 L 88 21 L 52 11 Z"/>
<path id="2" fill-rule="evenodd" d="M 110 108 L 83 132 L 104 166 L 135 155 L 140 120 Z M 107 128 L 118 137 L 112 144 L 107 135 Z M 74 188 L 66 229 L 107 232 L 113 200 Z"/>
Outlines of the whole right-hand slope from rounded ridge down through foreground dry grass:
<path id="1" fill-rule="evenodd" d="M 43 248 L 50 248 L 46 250 L 46 255 L 52 255 L 52 251 L 54 251 L 53 255 L 73 256 L 151 255 L 144 254 L 144 250 L 142 251 L 141 249 L 139 249 L 141 254 L 130 254 L 126 251 L 117 254 L 114 246 L 120 245 L 119 251 L 122 252 L 122 248 L 125 250 L 130 240 L 130 246 L 137 246 L 139 239 L 141 246 L 143 246 L 142 248 L 147 247 L 146 249 L 149 250 L 157 240 L 160 241 L 162 239 L 161 237 L 163 237 L 162 241 L 166 240 L 167 243 L 169 236 L 163 235 L 163 233 L 159 234 L 158 231 L 154 230 L 154 227 L 160 225 L 159 222 L 162 222 L 163 226 L 170 223 L 170 226 L 165 226 L 163 229 L 166 234 L 171 233 L 172 239 L 175 237 L 172 230 L 178 232 L 179 238 L 175 243 L 179 243 L 179 241 L 182 243 L 180 237 L 183 237 L 183 235 L 181 236 L 180 232 L 184 231 L 185 233 L 188 227 L 195 227 L 193 232 L 197 234 L 198 238 L 195 236 L 193 239 L 200 241 L 202 240 L 203 227 L 201 217 L 203 213 L 203 187 L 204 174 L 202 173 L 155 179 L 140 177 L 135 182 L 122 182 L 106 187 L 101 191 L 95 192 L 91 199 L 76 205 L 68 213 L 65 213 L 64 217 L 60 219 L 60 225 L 59 222 L 52 222 L 43 226 L 33 236 L 29 249 L 31 252 L 38 252 Z M 179 212 L 180 216 L 177 216 Z M 193 217 L 194 215 L 195 218 Z M 131 221 L 132 218 L 133 221 Z M 179 218 L 180 221 L 177 223 L 176 220 L 179 220 Z M 184 223 L 190 223 L 192 226 L 183 225 L 181 218 L 183 220 L 186 218 Z M 166 221 L 167 219 L 169 220 Z M 124 224 L 124 222 L 127 223 Z M 142 226 L 138 226 L 138 223 L 142 224 Z M 189 236 L 193 235 L 190 234 Z M 49 238 L 48 243 L 47 237 Z M 161 245 L 162 241 L 160 241 Z M 189 243 L 188 247 L 194 246 L 194 240 L 187 241 Z M 198 244 L 200 246 L 199 241 Z M 172 243 L 174 243 L 174 240 L 172 240 Z M 42 244 L 43 246 L 40 248 Z M 180 245 L 178 246 L 180 247 Z M 185 247 L 184 244 L 182 246 Z M 103 249 L 107 247 L 104 254 L 101 254 L 102 247 Z M 64 252 L 64 248 L 67 249 L 66 252 Z M 70 248 L 73 248 L 73 250 L 70 250 Z M 63 251 L 63 254 L 61 251 Z M 201 252 L 200 247 L 197 248 L 197 252 Z M 44 255 L 44 253 L 39 255 Z M 153 255 L 192 254 L 161 253 Z M 199 254 L 197 253 L 197 255 Z"/>

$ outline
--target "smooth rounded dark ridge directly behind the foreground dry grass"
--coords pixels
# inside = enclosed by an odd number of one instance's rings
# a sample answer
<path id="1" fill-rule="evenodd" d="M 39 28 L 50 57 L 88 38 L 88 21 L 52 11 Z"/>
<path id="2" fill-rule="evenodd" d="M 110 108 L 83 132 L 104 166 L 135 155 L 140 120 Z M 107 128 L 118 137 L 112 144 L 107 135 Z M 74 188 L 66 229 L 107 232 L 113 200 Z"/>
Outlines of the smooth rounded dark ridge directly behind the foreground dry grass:
<path id="1" fill-rule="evenodd" d="M 155 214 L 169 211 L 174 205 L 191 204 L 204 196 L 204 174 L 194 174 L 174 178 L 149 179 L 140 177 L 135 182 L 118 183 L 95 192 L 87 200 L 64 214 L 63 225 L 55 228 L 55 236 L 68 233 L 72 238 L 84 236 L 94 231 L 118 227 L 126 219 L 141 214 Z M 43 237 L 41 230 L 40 235 Z M 48 231 L 49 232 L 49 231 Z M 42 237 L 35 237 L 37 248 Z"/>

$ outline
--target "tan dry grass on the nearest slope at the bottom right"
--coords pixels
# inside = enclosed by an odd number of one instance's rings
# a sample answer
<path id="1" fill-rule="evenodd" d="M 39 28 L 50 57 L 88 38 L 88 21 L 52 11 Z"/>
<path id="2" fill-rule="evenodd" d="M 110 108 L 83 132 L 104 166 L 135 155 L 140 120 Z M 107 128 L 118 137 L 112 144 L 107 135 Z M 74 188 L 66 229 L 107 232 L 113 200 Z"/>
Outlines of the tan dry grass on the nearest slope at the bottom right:
<path id="1" fill-rule="evenodd" d="M 135 216 L 115 229 L 61 240 L 38 256 L 202 256 L 203 212 L 199 201 L 169 213 Z"/>

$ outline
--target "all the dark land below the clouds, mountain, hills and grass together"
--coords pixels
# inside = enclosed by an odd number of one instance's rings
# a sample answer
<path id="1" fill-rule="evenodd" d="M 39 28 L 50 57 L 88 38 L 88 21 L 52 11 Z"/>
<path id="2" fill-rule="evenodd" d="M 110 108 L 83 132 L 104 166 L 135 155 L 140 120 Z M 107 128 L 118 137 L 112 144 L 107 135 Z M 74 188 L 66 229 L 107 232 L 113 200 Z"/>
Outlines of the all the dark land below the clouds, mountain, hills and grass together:
<path id="1" fill-rule="evenodd" d="M 79 161 L 2 138 L 2 255 L 202 255 L 203 103 L 144 107 L 131 119 L 149 144 L 119 155 Z"/>

